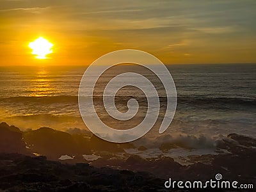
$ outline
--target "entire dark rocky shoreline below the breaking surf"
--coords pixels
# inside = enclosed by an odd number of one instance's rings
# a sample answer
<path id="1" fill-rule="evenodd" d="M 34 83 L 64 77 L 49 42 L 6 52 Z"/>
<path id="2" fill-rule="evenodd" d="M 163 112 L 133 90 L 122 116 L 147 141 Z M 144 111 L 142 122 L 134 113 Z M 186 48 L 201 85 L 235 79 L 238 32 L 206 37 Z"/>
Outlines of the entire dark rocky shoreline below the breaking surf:
<path id="1" fill-rule="evenodd" d="M 134 146 L 131 143 L 105 142 L 94 136 L 86 138 L 80 133 L 71 135 L 46 127 L 22 132 L 15 126 L 2 123 L 0 189 L 164 191 L 164 180 L 170 177 L 174 180 L 205 181 L 214 179 L 216 173 L 225 180 L 237 180 L 240 184 L 253 184 L 254 187 L 256 184 L 256 140 L 248 136 L 229 134 L 216 146 L 217 150 L 226 150 L 227 153 L 193 156 L 191 158 L 196 163 L 187 166 L 175 162 L 172 157 L 144 159 L 127 156 L 126 159 L 118 159 L 115 153 Z M 143 147 L 140 149 L 145 150 Z M 102 151 L 102 157 L 86 161 L 81 154 L 92 154 L 92 150 Z M 108 150 L 111 154 L 103 153 Z M 60 161 L 58 157 L 64 154 L 76 157 Z"/>

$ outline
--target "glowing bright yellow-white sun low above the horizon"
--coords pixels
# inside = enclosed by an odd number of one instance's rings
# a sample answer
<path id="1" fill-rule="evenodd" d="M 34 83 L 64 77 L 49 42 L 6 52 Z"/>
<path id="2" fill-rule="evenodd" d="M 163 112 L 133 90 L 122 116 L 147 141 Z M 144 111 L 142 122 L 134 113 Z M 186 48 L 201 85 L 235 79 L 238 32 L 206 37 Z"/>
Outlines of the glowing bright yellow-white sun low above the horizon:
<path id="1" fill-rule="evenodd" d="M 52 46 L 48 40 L 40 36 L 35 41 L 29 43 L 29 47 L 32 49 L 32 54 L 35 55 L 37 59 L 47 59 L 46 55 L 52 53 Z"/>

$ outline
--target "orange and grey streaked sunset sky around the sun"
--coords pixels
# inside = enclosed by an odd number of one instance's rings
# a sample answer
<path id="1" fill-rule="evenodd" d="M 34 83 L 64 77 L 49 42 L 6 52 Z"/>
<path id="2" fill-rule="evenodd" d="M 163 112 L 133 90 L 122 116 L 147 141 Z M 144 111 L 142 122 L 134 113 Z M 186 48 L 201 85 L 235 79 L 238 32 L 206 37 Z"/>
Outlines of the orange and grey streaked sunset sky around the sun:
<path id="1" fill-rule="evenodd" d="M 138 49 L 165 64 L 256 63 L 256 1 L 0 0 L 0 65 L 90 65 Z M 54 47 L 38 60 L 39 36 Z"/>

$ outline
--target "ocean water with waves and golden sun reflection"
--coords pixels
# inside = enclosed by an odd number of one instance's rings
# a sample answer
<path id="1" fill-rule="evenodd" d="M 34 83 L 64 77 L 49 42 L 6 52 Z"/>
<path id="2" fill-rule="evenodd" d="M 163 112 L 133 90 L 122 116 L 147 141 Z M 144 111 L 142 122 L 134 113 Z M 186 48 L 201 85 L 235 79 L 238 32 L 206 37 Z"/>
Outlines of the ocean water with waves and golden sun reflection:
<path id="1" fill-rule="evenodd" d="M 256 137 L 256 65 L 254 64 L 209 64 L 166 65 L 177 89 L 177 110 L 166 132 L 159 134 L 157 126 L 164 118 L 159 115 L 156 125 L 136 145 L 148 148 L 143 152 L 127 150 L 141 156 L 163 154 L 159 145 L 175 143 L 166 156 L 180 157 L 192 154 L 214 153 L 216 141 L 230 133 Z M 0 67 L 0 121 L 15 125 L 22 130 L 51 127 L 60 131 L 70 128 L 86 129 L 77 103 L 79 83 L 86 67 Z M 122 65 L 109 70 L 101 84 L 115 76 L 115 72 L 134 71 L 142 73 L 150 81 L 154 74 Z M 157 81 L 155 82 L 157 84 Z M 100 99 L 100 86 L 95 96 Z M 161 85 L 159 84 L 159 87 Z M 97 95 L 98 94 L 98 95 Z M 126 87 L 119 93 L 117 106 L 126 108 L 125 100 L 138 97 L 147 108 L 143 92 Z M 161 106 L 164 109 L 164 90 L 159 89 Z M 141 101 L 141 102 L 140 102 Z M 95 108 L 102 109 L 100 102 Z M 90 111 L 88 111 L 90 113 Z M 101 114 L 107 118 L 108 114 Z M 145 113 L 138 114 L 138 120 Z M 108 119 L 108 118 L 107 118 Z M 116 126 L 116 122 L 108 122 Z M 133 122 L 134 123 L 134 122 Z M 132 124 L 133 124 L 132 123 Z M 124 122 L 122 129 L 132 124 Z M 158 150 L 156 150 L 158 148 Z"/>

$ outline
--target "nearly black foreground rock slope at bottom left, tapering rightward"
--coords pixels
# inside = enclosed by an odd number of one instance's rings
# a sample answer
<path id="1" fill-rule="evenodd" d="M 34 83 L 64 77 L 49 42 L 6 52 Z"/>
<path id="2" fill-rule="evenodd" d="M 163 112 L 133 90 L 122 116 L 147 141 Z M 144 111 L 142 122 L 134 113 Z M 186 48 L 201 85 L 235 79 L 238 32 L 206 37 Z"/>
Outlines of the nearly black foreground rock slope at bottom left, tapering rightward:
<path id="1" fill-rule="evenodd" d="M 164 180 L 145 172 L 94 168 L 87 164 L 61 164 L 19 154 L 0 154 L 0 191 L 138 191 L 163 189 Z M 86 170 L 83 174 L 83 170 Z M 148 182 L 150 181 L 150 182 Z"/>

